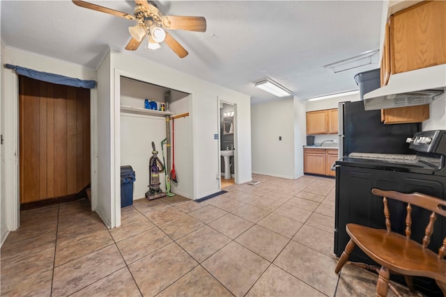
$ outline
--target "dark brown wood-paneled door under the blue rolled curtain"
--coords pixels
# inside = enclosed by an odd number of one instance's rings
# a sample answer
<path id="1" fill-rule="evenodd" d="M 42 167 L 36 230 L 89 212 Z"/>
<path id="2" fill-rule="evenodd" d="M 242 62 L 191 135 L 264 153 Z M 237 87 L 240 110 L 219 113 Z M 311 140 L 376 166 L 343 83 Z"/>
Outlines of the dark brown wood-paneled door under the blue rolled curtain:
<path id="1" fill-rule="evenodd" d="M 90 90 L 20 76 L 20 204 L 90 183 Z"/>

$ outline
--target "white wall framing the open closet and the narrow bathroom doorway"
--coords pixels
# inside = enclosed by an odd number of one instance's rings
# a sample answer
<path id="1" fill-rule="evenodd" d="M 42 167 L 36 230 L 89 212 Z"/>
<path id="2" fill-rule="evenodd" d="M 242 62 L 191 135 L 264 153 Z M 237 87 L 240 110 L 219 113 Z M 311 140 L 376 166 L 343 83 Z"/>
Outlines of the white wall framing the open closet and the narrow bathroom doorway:
<path id="1" fill-rule="evenodd" d="M 251 179 L 251 134 L 250 125 L 250 102 L 249 96 L 236 91 L 208 83 L 201 79 L 191 77 L 164 65 L 158 65 L 135 56 L 123 54 L 118 51 L 111 53 L 112 72 L 119 72 L 125 77 L 146 81 L 158 86 L 164 86 L 174 90 L 190 93 L 190 121 L 192 122 L 192 198 L 197 199 L 210 193 L 219 191 L 218 161 L 220 150 L 218 141 L 214 134 L 218 134 L 218 97 L 226 102 L 237 104 L 239 120 L 236 123 L 238 131 L 238 152 L 236 155 L 239 163 L 238 181 L 246 182 Z M 112 80 L 112 98 L 115 103 L 112 108 L 118 113 L 119 97 L 116 96 L 116 81 L 118 76 Z M 112 122 L 114 129 L 119 129 L 119 121 Z M 116 141 L 117 139 L 115 139 Z M 119 142 L 115 143 L 115 148 Z M 116 156 L 118 159 L 119 152 Z M 115 171 L 119 170 L 119 164 L 115 163 Z M 116 186 L 120 186 L 118 177 L 113 176 Z M 116 188 L 116 187 L 115 187 Z"/>

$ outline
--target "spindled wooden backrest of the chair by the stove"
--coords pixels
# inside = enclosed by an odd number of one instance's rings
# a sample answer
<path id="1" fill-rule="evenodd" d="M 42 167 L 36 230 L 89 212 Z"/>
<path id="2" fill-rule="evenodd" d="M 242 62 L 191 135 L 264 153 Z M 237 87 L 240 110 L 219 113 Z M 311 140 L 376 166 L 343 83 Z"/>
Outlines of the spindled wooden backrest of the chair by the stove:
<path id="1" fill-rule="evenodd" d="M 377 196 L 383 197 L 384 204 L 384 216 L 385 216 L 385 227 L 387 232 L 390 232 L 390 211 L 387 207 L 387 198 L 392 198 L 394 200 L 399 200 L 407 203 L 407 214 L 406 214 L 406 238 L 410 239 L 411 233 L 411 225 L 412 225 L 412 216 L 410 212 L 412 211 L 412 205 L 416 205 L 417 207 L 422 207 L 429 211 L 432 211 L 431 216 L 429 216 L 429 223 L 424 230 L 423 237 L 423 248 L 426 248 L 429 245 L 429 241 L 431 241 L 431 234 L 433 233 L 433 223 L 437 218 L 437 214 L 440 216 L 446 217 L 446 200 L 441 200 L 439 198 L 429 196 L 422 193 L 410 193 L 404 194 L 399 193 L 397 191 L 383 191 L 379 188 L 374 188 L 371 190 L 371 193 Z M 443 246 L 438 250 L 438 258 L 442 259 L 446 255 L 446 237 L 443 239 Z"/>

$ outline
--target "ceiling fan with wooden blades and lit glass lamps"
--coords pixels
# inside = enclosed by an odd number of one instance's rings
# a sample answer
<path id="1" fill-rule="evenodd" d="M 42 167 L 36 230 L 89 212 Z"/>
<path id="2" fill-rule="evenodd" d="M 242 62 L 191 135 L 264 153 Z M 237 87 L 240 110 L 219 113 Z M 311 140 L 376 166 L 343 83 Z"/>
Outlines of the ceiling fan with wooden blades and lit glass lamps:
<path id="1" fill-rule="evenodd" d="M 133 15 L 86 1 L 72 0 L 72 2 L 83 8 L 137 21 L 135 26 L 128 28 L 132 39 L 125 46 L 125 49 L 129 51 L 136 50 L 147 35 L 148 49 L 159 49 L 161 47 L 160 42 L 164 41 L 175 54 L 180 58 L 184 58 L 189 53 L 167 32 L 167 29 L 206 32 L 206 19 L 204 17 L 162 15 L 153 1 L 134 0 L 136 6 L 134 7 Z"/>

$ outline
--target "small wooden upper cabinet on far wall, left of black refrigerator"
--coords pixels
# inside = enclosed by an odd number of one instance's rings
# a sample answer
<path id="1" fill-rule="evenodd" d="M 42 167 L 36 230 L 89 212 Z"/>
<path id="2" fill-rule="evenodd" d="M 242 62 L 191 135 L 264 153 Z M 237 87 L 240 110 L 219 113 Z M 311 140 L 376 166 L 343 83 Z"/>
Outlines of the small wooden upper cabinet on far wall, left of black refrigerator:
<path id="1" fill-rule="evenodd" d="M 337 109 L 308 111 L 307 134 L 337 134 Z"/>

